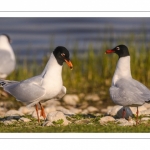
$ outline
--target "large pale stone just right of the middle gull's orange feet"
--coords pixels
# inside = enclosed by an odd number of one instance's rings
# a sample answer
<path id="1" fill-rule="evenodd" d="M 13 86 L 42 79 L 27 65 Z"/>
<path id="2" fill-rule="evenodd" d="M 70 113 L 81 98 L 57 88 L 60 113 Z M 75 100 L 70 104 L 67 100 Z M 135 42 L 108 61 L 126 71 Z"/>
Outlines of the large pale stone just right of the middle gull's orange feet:
<path id="1" fill-rule="evenodd" d="M 68 125 L 69 124 L 69 121 L 66 119 L 66 116 L 60 112 L 60 111 L 54 111 L 54 112 L 51 112 L 47 115 L 47 118 L 46 118 L 46 121 L 58 121 L 62 119 L 63 120 L 63 125 Z"/>

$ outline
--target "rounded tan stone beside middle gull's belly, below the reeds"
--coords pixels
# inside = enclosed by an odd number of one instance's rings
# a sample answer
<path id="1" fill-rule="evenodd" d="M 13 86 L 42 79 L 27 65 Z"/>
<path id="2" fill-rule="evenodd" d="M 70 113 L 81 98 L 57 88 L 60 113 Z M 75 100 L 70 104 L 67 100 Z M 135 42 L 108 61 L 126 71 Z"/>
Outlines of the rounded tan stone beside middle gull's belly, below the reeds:
<path id="1" fill-rule="evenodd" d="M 79 97 L 78 95 L 75 95 L 75 94 L 67 94 L 63 97 L 63 101 L 67 105 L 76 106 L 76 104 L 79 102 Z"/>

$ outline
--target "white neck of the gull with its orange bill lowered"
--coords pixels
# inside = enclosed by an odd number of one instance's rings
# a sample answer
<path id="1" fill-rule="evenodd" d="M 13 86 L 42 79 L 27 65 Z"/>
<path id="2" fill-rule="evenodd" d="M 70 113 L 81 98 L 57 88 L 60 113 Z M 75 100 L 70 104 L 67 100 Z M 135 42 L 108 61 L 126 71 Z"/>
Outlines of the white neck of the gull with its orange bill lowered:
<path id="1" fill-rule="evenodd" d="M 53 55 L 53 53 L 51 53 L 50 59 L 47 62 L 46 67 L 41 74 L 42 77 L 44 79 L 55 78 L 58 76 L 61 77 L 61 72 L 62 72 L 62 66 L 58 64 L 55 56 Z"/>

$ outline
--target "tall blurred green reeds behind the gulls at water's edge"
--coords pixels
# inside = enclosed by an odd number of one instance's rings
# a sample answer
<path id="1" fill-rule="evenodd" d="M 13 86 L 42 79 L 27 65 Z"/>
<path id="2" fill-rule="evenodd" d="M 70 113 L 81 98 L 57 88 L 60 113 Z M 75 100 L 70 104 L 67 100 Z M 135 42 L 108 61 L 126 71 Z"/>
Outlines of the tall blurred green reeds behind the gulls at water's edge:
<path id="1" fill-rule="evenodd" d="M 122 42 L 118 42 L 118 44 Z M 136 80 L 150 88 L 150 46 L 131 43 L 126 44 L 131 55 L 132 76 Z M 103 91 L 104 99 L 109 98 L 108 89 L 115 71 L 118 56 L 116 54 L 105 55 L 107 49 L 113 48 L 110 44 L 104 43 L 99 50 L 92 45 L 85 52 L 79 51 L 75 45 L 71 51 L 71 61 L 74 65 L 70 70 L 64 63 L 63 82 L 67 87 L 67 93 L 97 93 L 100 96 Z M 52 50 L 51 50 L 52 52 Z M 41 64 L 36 61 L 36 56 L 32 61 L 24 59 L 23 64 L 17 66 L 16 70 L 7 78 L 10 80 L 24 80 L 38 75 L 44 69 L 49 56 L 45 56 Z"/>

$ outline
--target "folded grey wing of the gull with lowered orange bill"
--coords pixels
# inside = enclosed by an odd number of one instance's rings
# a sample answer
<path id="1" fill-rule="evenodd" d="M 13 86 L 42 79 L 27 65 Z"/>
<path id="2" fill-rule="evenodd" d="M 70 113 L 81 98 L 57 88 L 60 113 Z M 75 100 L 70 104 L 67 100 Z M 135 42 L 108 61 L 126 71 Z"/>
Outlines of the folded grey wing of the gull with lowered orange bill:
<path id="1" fill-rule="evenodd" d="M 30 78 L 22 82 L 7 84 L 4 86 L 4 90 L 13 95 L 17 100 L 30 104 L 45 94 L 45 89 L 40 84 L 37 84 L 37 82 L 34 82 L 33 79 Z"/>

